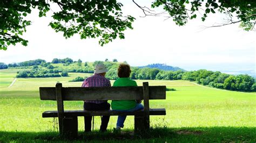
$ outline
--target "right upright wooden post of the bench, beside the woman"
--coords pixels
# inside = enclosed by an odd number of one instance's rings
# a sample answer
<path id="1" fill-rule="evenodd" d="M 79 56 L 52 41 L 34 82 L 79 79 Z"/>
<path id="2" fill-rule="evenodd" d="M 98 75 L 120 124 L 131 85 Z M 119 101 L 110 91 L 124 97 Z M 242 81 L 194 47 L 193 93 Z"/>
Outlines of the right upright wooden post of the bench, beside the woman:
<path id="1" fill-rule="evenodd" d="M 143 82 L 143 99 L 144 99 L 144 127 L 145 127 L 145 130 L 149 130 L 150 128 L 149 82 Z"/>

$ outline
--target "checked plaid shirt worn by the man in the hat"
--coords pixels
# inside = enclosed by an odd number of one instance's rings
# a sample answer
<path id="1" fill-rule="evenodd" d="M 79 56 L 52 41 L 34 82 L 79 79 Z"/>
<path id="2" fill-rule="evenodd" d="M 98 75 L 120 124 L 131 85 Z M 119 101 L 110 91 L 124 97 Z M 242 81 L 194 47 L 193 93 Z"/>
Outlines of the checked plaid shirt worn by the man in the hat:
<path id="1" fill-rule="evenodd" d="M 108 80 L 106 77 L 100 75 L 100 74 L 95 74 L 91 77 L 88 77 L 84 80 L 82 87 L 111 87 L 110 80 Z M 104 103 L 107 101 L 84 101 L 86 103 Z"/>

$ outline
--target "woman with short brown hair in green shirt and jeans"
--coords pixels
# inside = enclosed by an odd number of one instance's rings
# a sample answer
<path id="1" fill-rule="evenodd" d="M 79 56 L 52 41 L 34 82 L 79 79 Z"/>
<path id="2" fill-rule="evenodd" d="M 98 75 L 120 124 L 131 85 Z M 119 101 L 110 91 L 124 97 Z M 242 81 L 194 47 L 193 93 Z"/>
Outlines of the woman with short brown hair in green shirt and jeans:
<path id="1" fill-rule="evenodd" d="M 113 87 L 137 87 L 136 81 L 130 80 L 130 74 L 130 66 L 128 64 L 120 64 L 118 67 L 119 78 L 114 81 Z M 112 101 L 111 107 L 114 111 L 133 112 L 144 108 L 140 102 L 141 101 L 136 100 Z M 124 127 L 125 119 L 126 116 L 118 116 L 116 130 L 120 130 L 121 127 Z"/>

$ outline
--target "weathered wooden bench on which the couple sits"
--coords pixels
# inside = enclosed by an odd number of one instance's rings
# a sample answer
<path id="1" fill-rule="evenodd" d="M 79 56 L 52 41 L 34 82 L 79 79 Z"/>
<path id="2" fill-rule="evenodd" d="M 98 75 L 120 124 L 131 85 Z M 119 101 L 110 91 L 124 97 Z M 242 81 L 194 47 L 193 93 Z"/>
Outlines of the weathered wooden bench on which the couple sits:
<path id="1" fill-rule="evenodd" d="M 149 99 L 165 99 L 165 86 L 149 86 L 143 82 L 142 87 L 40 87 L 40 99 L 57 101 L 57 111 L 43 112 L 43 118 L 58 117 L 60 135 L 76 137 L 78 133 L 78 116 L 134 116 L 134 131 L 142 132 L 150 128 L 150 115 L 166 115 L 165 109 L 150 109 Z M 112 110 L 86 111 L 64 110 L 63 101 L 85 100 L 133 100 L 143 99 L 144 110 L 120 112 Z M 83 104 L 81 103 L 81 108 Z"/>

